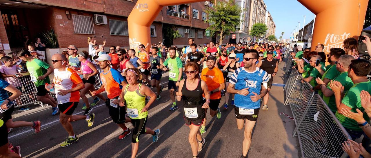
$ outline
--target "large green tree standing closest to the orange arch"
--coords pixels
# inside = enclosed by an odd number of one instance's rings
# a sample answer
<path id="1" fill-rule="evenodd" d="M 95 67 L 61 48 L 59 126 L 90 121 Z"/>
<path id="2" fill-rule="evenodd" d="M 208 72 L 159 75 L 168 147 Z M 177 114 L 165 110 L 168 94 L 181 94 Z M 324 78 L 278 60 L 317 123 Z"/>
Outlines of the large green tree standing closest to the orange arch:
<path id="1" fill-rule="evenodd" d="M 234 4 L 233 0 L 228 3 L 224 1 L 218 3 L 214 9 L 207 7 L 204 10 L 209 15 L 205 23 L 212 24 L 206 30 L 210 30 L 210 37 L 220 32 L 219 43 L 222 44 L 224 36 L 236 31 L 237 25 L 243 21 L 240 19 L 242 10 Z"/>

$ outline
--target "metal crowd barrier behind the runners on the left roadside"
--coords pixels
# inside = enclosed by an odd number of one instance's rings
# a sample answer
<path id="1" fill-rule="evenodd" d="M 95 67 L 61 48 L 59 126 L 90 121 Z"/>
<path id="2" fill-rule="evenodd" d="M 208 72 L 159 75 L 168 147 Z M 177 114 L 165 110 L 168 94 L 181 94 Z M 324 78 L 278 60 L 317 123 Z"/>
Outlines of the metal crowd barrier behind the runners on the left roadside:
<path id="1" fill-rule="evenodd" d="M 96 89 L 100 88 L 102 84 L 99 78 L 99 73 L 94 75 L 93 77 L 95 78 L 94 87 Z M 53 78 L 50 78 L 50 80 L 53 80 Z M 14 83 L 12 83 L 12 85 L 22 92 L 22 95 L 13 100 L 15 107 L 21 107 L 30 104 L 39 104 L 42 107 L 44 106 L 44 104 L 36 98 L 37 89 L 35 83 L 31 81 L 30 76 L 14 78 Z M 8 95 L 10 96 L 12 94 L 8 92 Z M 49 92 L 49 95 L 53 98 L 56 98 L 55 93 Z"/>

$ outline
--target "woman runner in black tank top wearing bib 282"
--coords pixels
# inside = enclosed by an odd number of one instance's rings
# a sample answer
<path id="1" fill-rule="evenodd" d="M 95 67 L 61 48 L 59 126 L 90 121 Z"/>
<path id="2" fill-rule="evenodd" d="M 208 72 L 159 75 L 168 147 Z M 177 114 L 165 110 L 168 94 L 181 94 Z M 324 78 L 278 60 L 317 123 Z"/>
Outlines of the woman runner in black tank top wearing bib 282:
<path id="1" fill-rule="evenodd" d="M 191 144 L 193 158 L 197 158 L 198 152 L 205 144 L 205 139 L 201 137 L 199 129 L 206 116 L 205 109 L 209 108 L 210 94 L 206 82 L 198 78 L 199 72 L 195 63 L 187 63 L 184 72 L 187 79 L 180 81 L 177 100 L 179 102 L 182 98 L 184 100 L 183 118 L 185 124 L 190 128 L 188 141 Z M 205 96 L 206 101 L 201 99 L 201 95 Z"/>

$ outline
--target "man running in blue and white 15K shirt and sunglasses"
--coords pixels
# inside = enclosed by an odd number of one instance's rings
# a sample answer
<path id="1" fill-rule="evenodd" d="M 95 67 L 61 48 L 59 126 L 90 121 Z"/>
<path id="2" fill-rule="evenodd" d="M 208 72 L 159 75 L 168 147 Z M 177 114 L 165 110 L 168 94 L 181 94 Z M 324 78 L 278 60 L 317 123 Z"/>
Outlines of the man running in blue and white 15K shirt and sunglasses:
<path id="1" fill-rule="evenodd" d="M 236 94 L 234 114 L 236 115 L 237 128 L 244 126 L 244 140 L 242 144 L 241 158 L 248 157 L 251 144 L 251 133 L 255 126 L 259 109 L 260 99 L 267 94 L 268 73 L 256 67 L 258 52 L 249 49 L 244 54 L 244 66 L 236 69 L 227 87 L 227 92 Z"/>

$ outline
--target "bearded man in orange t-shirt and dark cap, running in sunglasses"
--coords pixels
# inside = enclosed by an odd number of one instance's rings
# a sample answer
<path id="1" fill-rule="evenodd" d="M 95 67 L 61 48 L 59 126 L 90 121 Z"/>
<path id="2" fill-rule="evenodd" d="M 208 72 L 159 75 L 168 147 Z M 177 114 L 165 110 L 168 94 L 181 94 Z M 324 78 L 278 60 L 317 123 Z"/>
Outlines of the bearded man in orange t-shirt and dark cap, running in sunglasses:
<path id="1" fill-rule="evenodd" d="M 216 57 L 210 55 L 206 59 L 207 69 L 203 69 L 201 73 L 201 80 L 205 81 L 209 91 L 210 91 L 210 115 L 211 117 L 217 116 L 218 119 L 221 117 L 221 112 L 219 109 L 219 103 L 221 99 L 220 90 L 225 87 L 223 73 L 219 68 L 215 67 Z M 205 97 L 205 96 L 204 96 Z M 207 113 L 207 109 L 205 109 Z M 205 119 L 201 125 L 200 133 L 201 135 L 206 132 L 206 115 Z"/>

